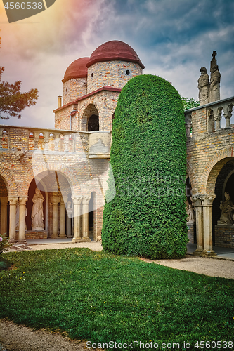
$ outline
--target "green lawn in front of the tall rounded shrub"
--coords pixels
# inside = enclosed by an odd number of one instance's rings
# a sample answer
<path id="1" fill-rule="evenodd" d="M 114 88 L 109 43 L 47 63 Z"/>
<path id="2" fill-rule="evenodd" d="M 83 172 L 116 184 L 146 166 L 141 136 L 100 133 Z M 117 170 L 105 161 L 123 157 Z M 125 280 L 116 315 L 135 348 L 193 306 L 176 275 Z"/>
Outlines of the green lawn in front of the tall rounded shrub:
<path id="1" fill-rule="evenodd" d="M 152 340 L 180 343 L 177 350 L 183 350 L 184 341 L 233 340 L 232 279 L 89 249 L 4 253 L 4 258 L 15 269 L 0 272 L 0 318 L 93 343 Z"/>

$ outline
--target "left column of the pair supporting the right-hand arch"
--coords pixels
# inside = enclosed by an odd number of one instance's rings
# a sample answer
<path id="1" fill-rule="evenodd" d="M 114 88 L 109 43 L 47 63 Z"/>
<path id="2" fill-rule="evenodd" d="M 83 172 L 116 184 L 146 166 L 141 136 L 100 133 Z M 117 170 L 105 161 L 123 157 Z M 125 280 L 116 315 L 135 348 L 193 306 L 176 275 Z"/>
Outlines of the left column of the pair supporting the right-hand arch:
<path id="1" fill-rule="evenodd" d="M 202 201 L 199 197 L 192 197 L 196 211 L 196 237 L 197 237 L 197 249 L 193 253 L 196 256 L 201 256 L 203 251 L 203 209 Z"/>

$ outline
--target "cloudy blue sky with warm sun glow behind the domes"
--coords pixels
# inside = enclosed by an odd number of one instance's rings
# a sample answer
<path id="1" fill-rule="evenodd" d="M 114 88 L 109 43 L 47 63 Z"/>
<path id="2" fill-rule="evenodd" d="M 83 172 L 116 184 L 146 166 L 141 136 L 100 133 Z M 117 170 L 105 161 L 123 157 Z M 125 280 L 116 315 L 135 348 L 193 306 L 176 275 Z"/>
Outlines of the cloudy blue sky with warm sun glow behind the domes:
<path id="1" fill-rule="evenodd" d="M 68 65 L 110 40 L 134 48 L 144 74 L 157 74 L 196 100 L 200 67 L 209 71 L 216 50 L 221 98 L 233 96 L 233 13 L 233 0 L 56 0 L 9 24 L 0 0 L 2 79 L 22 81 L 22 91 L 39 90 L 37 105 L 22 111 L 22 119 L 0 122 L 53 128 Z"/>

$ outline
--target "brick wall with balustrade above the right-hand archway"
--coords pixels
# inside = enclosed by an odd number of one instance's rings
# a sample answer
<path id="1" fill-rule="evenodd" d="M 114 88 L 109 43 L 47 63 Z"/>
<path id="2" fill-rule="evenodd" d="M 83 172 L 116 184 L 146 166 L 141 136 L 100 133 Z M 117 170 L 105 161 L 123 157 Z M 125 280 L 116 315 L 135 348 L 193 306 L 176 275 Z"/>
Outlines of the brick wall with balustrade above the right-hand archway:
<path id="1" fill-rule="evenodd" d="M 228 161 L 227 158 L 233 157 L 234 126 L 219 128 L 216 123 L 219 119 L 221 124 L 221 115 L 217 116 L 221 112 L 217 111 L 222 109 L 230 121 L 232 113 L 228 114 L 227 111 L 233 103 L 234 98 L 229 98 L 186 111 L 186 121 L 190 117 L 192 125 L 192 137 L 187 138 L 187 164 L 193 194 L 214 194 L 221 168 Z"/>

